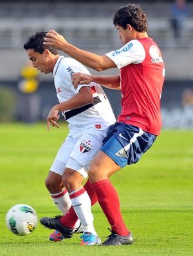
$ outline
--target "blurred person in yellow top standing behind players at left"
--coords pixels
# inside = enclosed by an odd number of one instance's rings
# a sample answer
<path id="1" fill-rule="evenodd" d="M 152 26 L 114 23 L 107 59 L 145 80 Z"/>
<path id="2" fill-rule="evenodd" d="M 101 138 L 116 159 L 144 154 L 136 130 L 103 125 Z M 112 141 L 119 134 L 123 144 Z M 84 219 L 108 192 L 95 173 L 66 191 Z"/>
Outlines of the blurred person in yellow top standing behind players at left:
<path id="1" fill-rule="evenodd" d="M 39 72 L 31 62 L 21 69 L 18 88 L 21 92 L 19 99 L 19 119 L 25 123 L 35 123 L 40 117 Z"/>

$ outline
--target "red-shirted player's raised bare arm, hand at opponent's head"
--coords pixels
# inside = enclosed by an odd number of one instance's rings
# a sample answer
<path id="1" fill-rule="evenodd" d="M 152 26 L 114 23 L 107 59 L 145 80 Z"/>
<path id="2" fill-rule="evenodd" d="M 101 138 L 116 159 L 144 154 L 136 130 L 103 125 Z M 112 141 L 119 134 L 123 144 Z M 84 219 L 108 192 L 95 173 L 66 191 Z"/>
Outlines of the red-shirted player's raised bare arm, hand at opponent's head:
<path id="1" fill-rule="evenodd" d="M 116 64 L 106 55 L 97 55 L 80 50 L 76 46 L 69 44 L 66 39 L 55 32 L 55 30 L 50 30 L 50 32 L 46 34 L 44 44 L 54 46 L 55 48 L 66 52 L 69 56 L 94 70 L 102 71 L 108 68 L 116 68 Z"/>

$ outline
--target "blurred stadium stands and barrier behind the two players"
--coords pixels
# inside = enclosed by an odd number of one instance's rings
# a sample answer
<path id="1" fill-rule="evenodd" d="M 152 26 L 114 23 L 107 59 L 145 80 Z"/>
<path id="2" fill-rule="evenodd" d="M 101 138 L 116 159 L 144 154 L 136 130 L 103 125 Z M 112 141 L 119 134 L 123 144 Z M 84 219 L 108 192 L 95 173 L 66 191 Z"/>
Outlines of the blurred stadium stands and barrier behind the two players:
<path id="1" fill-rule="evenodd" d="M 51 74 L 39 75 L 39 86 L 34 90 L 22 90 L 21 70 L 28 63 L 23 44 L 30 35 L 55 29 L 70 43 L 105 54 L 121 46 L 112 22 L 113 13 L 120 6 L 136 3 L 147 13 L 149 36 L 159 44 L 165 61 L 166 79 L 161 99 L 163 128 L 192 128 L 193 1 L 187 1 L 188 17 L 178 41 L 174 39 L 170 25 L 170 5 L 173 2 L 0 1 L 0 121 L 33 123 L 45 119 L 51 106 L 57 103 Z M 113 69 L 102 74 L 117 72 Z M 118 115 L 119 92 L 106 92 Z"/>

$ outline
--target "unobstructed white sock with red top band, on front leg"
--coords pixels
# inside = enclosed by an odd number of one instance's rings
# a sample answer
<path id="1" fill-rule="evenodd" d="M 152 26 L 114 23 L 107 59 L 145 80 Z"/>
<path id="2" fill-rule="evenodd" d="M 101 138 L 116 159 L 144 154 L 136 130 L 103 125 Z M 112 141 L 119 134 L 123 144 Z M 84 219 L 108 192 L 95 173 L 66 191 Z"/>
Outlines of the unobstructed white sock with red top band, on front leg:
<path id="1" fill-rule="evenodd" d="M 91 212 L 91 200 L 86 190 L 84 190 L 84 188 L 75 190 L 69 193 L 69 197 L 71 198 L 71 204 L 77 213 L 80 222 L 84 226 L 84 232 L 90 232 L 96 235 L 93 224 L 94 217 Z"/>

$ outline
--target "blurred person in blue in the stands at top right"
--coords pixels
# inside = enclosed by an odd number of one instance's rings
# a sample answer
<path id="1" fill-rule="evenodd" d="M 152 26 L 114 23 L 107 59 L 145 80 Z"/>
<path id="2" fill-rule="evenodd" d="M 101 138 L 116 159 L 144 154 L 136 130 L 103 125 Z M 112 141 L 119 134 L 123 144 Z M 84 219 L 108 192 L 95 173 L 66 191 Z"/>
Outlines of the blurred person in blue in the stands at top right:
<path id="1" fill-rule="evenodd" d="M 174 38 L 180 39 L 185 19 L 188 16 L 188 7 L 186 0 L 176 0 L 170 8 L 171 25 L 174 32 Z"/>

